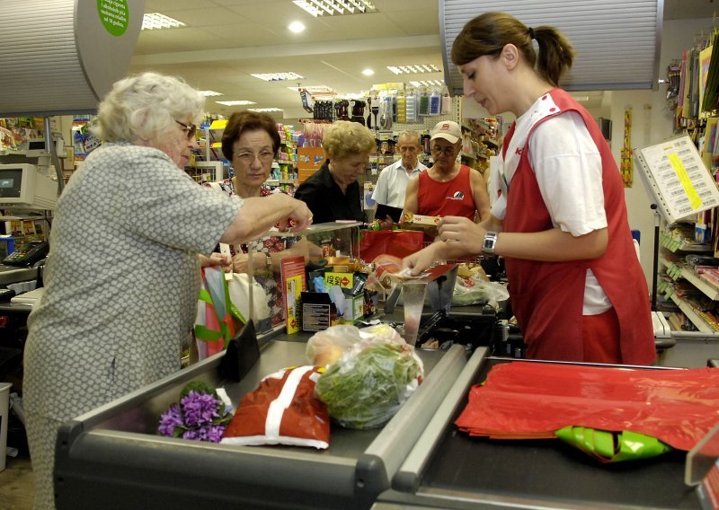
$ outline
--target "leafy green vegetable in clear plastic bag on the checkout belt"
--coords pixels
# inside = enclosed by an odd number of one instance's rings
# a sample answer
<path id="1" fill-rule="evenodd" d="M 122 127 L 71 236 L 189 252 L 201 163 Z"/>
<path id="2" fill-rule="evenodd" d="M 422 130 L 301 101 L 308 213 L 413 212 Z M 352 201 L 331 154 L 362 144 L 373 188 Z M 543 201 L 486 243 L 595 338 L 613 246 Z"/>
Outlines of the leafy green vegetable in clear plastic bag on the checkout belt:
<path id="1" fill-rule="evenodd" d="M 395 415 L 421 377 L 410 347 L 376 341 L 330 365 L 315 384 L 315 396 L 340 425 L 373 428 Z"/>

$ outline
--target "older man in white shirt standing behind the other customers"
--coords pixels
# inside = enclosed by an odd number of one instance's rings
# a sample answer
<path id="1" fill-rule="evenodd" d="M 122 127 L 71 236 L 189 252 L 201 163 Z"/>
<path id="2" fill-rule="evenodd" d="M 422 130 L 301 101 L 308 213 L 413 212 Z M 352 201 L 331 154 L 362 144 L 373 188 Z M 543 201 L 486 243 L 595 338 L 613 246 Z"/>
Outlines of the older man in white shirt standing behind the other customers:
<path id="1" fill-rule="evenodd" d="M 377 205 L 399 209 L 397 217 L 394 218 L 395 222 L 399 221 L 401 209 L 404 207 L 405 192 L 410 179 L 419 175 L 421 171 L 427 170 L 427 167 L 420 163 L 417 157 L 422 151 L 419 133 L 416 131 L 404 131 L 399 136 L 397 147 L 400 154 L 402 154 L 402 159 L 386 166 L 380 172 L 377 186 L 372 193 L 372 199 L 377 202 Z M 377 219 L 390 221 L 391 218 L 381 217 Z"/>

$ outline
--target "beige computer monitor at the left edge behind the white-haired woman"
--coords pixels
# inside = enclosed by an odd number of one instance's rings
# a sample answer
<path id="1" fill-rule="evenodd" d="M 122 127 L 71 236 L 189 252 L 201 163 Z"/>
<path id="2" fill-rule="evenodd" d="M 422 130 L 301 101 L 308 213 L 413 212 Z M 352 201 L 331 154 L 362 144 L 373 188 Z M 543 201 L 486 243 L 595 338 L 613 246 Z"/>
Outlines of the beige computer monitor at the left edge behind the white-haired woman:
<path id="1" fill-rule="evenodd" d="M 0 209 L 54 210 L 58 182 L 34 164 L 0 164 Z"/>

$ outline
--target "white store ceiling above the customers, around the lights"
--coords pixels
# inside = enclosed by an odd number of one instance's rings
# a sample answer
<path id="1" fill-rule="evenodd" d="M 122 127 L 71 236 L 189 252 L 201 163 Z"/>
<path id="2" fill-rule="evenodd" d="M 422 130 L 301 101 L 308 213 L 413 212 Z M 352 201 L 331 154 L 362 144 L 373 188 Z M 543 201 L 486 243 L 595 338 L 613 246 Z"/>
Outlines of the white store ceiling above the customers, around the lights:
<path id="1" fill-rule="evenodd" d="M 228 115 L 247 107 L 215 101 L 248 100 L 249 108 L 280 108 L 278 119 L 311 117 L 297 82 L 263 82 L 253 73 L 294 72 L 302 86 L 324 85 L 340 94 L 372 84 L 442 80 L 443 73 L 395 75 L 386 66 L 432 64 L 442 68 L 438 0 L 373 0 L 378 13 L 315 18 L 290 0 L 146 0 L 146 13 L 163 13 L 185 27 L 140 33 L 130 72 L 155 70 L 182 76 L 208 98 L 208 110 Z M 719 4 L 719 2 L 717 3 Z M 664 19 L 712 18 L 711 0 L 665 0 Z M 306 31 L 293 34 L 290 22 Z M 375 75 L 361 71 L 374 69 Z"/>

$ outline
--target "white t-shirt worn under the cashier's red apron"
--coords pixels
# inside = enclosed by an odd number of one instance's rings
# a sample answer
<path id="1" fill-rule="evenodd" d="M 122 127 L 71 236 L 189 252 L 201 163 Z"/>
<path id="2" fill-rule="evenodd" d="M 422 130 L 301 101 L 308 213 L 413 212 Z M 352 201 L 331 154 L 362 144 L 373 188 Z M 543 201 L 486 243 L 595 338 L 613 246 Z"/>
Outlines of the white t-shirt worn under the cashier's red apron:
<path id="1" fill-rule="evenodd" d="M 555 103 L 551 97 L 537 99 L 516 121 L 506 158 L 501 161 L 496 179 L 491 181 L 493 195 L 497 196 L 498 190 L 501 192 L 492 207 L 492 214 L 499 219 L 503 220 L 506 215 L 506 197 L 529 130 L 553 108 Z M 568 111 L 542 122 L 529 140 L 528 148 L 528 158 L 552 224 L 574 236 L 606 228 L 601 156 L 581 115 Z M 583 313 L 594 315 L 609 308 L 607 295 L 588 269 Z"/>

